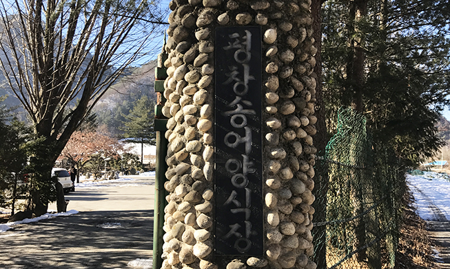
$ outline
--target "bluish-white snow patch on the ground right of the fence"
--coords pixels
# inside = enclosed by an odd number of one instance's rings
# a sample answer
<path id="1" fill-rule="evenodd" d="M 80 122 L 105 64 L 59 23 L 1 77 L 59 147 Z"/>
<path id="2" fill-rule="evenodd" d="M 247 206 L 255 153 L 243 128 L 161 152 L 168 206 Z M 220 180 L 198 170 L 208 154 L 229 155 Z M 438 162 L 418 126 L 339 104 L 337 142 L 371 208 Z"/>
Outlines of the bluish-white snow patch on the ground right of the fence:
<path id="1" fill-rule="evenodd" d="M 409 188 L 416 199 L 417 213 L 422 219 L 433 220 L 430 202 L 434 203 L 447 219 L 450 219 L 450 177 L 438 172 L 424 175 L 407 175 Z"/>

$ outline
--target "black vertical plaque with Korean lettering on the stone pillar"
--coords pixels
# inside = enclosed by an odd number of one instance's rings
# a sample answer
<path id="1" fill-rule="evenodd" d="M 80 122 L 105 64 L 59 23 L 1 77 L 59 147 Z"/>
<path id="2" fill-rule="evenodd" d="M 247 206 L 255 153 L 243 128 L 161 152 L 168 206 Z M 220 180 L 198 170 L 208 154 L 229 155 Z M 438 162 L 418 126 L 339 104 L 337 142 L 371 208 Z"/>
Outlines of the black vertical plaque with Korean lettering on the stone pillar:
<path id="1" fill-rule="evenodd" d="M 216 28 L 216 255 L 263 255 L 261 28 Z"/>

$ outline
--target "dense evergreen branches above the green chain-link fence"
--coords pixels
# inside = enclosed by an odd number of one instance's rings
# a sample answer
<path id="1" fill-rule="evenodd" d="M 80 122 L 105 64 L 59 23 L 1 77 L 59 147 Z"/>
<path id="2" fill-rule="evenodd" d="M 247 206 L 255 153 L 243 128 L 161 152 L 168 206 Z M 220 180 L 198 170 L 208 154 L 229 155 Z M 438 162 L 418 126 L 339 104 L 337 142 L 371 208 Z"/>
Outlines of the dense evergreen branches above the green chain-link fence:
<path id="1" fill-rule="evenodd" d="M 433 155 L 443 144 L 435 123 L 449 104 L 449 10 L 443 0 L 326 1 L 327 119 L 360 102 L 374 141 L 409 164 Z"/>

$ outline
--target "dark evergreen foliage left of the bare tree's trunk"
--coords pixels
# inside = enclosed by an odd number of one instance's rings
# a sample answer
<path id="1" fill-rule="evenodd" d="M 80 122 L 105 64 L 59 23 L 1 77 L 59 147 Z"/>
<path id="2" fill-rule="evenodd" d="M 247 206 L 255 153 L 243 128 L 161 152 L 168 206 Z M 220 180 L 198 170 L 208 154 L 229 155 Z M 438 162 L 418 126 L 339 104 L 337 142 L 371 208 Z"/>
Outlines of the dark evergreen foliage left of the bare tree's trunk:
<path id="1" fill-rule="evenodd" d="M 0 98 L 0 102 L 4 99 Z M 31 199 L 32 193 L 38 190 L 41 203 L 56 200 L 57 179 L 46 176 L 52 166 L 48 166 L 46 158 L 41 158 L 41 154 L 49 154 L 52 149 L 43 141 L 17 120 L 11 110 L 0 106 L 0 206 L 12 208 L 12 215 L 19 197 Z"/>

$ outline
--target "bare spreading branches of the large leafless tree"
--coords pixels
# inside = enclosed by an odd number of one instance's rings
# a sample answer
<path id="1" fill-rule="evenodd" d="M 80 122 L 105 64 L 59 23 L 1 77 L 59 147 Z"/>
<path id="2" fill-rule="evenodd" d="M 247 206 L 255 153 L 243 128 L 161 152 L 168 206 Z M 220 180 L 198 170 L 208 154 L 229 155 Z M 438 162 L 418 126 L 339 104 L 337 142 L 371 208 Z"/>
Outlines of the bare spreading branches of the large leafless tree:
<path id="1" fill-rule="evenodd" d="M 150 0 L 0 4 L 0 69 L 56 160 L 106 90 L 161 33 Z"/>

